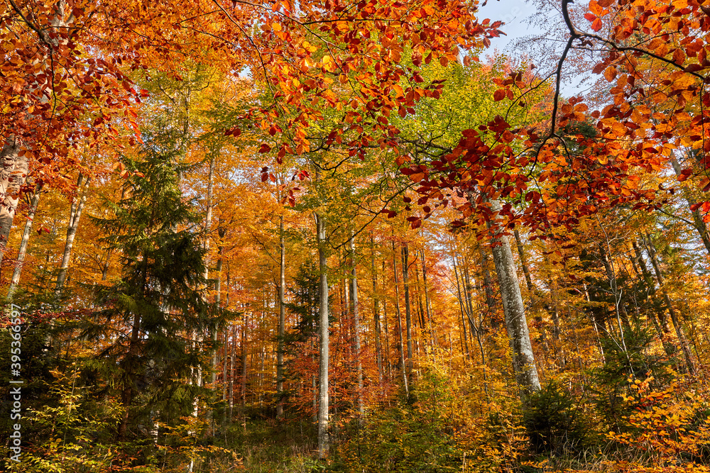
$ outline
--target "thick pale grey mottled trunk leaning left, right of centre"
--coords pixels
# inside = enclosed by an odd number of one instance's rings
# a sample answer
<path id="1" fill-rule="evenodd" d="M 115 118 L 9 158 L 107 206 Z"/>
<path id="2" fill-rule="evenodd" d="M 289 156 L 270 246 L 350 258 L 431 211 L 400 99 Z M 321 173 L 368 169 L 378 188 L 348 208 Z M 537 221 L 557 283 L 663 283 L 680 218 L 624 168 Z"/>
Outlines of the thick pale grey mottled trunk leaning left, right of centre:
<path id="1" fill-rule="evenodd" d="M 501 210 L 497 200 L 491 200 L 493 212 Z M 530 331 L 525 318 L 525 305 L 520 294 L 520 283 L 515 270 L 513 252 L 510 250 L 510 240 L 507 235 L 493 235 L 493 263 L 496 265 L 498 284 L 501 286 L 503 313 L 506 317 L 506 328 L 513 349 L 513 370 L 515 379 L 525 393 L 540 390 L 540 378 L 537 376 L 535 356 L 532 355 Z"/>

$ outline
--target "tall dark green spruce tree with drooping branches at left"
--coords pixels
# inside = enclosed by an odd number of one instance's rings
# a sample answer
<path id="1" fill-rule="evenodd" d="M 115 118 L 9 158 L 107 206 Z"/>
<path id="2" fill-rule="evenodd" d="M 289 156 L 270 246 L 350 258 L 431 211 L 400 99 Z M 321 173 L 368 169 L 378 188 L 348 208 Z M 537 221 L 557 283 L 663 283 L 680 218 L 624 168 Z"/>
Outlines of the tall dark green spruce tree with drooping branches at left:
<path id="1" fill-rule="evenodd" d="M 187 415 L 200 389 L 191 383 L 200 367 L 197 334 L 213 314 L 203 294 L 200 217 L 179 187 L 180 154 L 153 145 L 140 160 L 124 158 L 131 175 L 121 201 L 108 203 L 115 217 L 96 219 L 123 271 L 99 291 L 102 309 L 84 336 L 106 345 L 94 372 L 108 378 L 125 408 L 121 440 L 146 436 L 158 418 Z"/>

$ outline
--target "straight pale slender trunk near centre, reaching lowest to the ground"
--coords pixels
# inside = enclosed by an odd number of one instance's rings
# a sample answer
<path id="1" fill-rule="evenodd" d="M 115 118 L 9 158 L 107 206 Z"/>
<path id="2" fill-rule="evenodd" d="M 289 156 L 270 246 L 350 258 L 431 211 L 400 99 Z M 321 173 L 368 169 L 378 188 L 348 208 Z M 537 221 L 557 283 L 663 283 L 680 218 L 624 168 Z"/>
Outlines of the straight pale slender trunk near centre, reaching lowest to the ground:
<path id="1" fill-rule="evenodd" d="M 316 236 L 318 243 L 318 269 L 320 271 L 320 360 L 318 363 L 318 456 L 325 457 L 330 447 L 328 435 L 328 362 L 329 362 L 329 321 L 328 321 L 328 262 L 325 254 L 325 219 L 318 213 Z"/>

